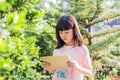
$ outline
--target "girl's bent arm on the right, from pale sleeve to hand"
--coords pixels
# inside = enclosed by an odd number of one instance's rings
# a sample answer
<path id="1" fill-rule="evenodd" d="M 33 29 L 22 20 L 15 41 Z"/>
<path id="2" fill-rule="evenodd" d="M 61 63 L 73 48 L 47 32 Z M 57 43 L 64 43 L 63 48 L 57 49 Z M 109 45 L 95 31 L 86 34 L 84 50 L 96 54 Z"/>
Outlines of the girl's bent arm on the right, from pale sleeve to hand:
<path id="1" fill-rule="evenodd" d="M 83 46 L 81 51 L 82 51 L 82 61 L 83 61 L 82 66 L 80 66 L 77 61 L 69 61 L 68 66 L 70 68 L 74 68 L 78 70 L 80 73 L 84 74 L 85 76 L 91 77 L 92 65 L 91 65 L 89 51 L 85 46 Z"/>

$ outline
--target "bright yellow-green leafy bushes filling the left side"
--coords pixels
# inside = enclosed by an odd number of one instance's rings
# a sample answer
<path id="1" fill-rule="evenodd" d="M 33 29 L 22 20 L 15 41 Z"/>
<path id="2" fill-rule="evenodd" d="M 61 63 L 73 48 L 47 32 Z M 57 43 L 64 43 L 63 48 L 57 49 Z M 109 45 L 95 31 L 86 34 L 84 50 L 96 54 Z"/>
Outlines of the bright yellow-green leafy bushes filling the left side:
<path id="1" fill-rule="evenodd" d="M 16 5 L 18 2 L 20 4 Z M 39 58 L 41 52 L 39 46 L 36 45 L 40 34 L 36 24 L 44 25 L 39 18 L 43 18 L 45 13 L 42 9 L 36 9 L 35 2 L 30 2 L 28 5 L 29 1 L 7 0 L 4 3 L 11 5 L 10 10 L 0 8 L 2 15 L 0 30 L 6 31 L 0 32 L 0 76 L 5 80 L 39 80 L 42 77 L 38 71 L 38 65 L 41 64 Z M 2 2 L 0 2 L 0 7 L 1 4 Z M 29 11 L 32 11 L 30 15 L 27 13 Z M 29 16 L 30 19 L 27 18 Z M 31 35 L 34 32 L 37 33 Z"/>

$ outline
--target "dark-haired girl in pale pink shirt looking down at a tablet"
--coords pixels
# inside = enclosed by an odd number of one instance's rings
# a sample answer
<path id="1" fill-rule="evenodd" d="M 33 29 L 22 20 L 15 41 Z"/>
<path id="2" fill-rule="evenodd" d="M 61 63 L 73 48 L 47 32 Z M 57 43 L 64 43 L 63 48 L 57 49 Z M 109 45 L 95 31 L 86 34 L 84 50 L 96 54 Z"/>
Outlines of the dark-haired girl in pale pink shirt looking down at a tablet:
<path id="1" fill-rule="evenodd" d="M 76 19 L 72 15 L 62 16 L 56 26 L 57 46 L 53 55 L 67 55 L 71 60 L 67 62 L 68 68 L 53 72 L 52 80 L 83 80 L 85 76 L 92 76 L 92 66 L 89 51 L 83 45 Z M 47 69 L 50 64 L 43 62 Z"/>

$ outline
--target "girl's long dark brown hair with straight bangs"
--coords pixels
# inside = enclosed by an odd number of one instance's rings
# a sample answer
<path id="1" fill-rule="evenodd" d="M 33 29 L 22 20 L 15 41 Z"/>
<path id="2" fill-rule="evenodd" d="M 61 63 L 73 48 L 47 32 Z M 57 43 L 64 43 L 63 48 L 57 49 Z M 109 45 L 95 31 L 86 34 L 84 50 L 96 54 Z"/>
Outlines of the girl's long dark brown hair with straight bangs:
<path id="1" fill-rule="evenodd" d="M 56 25 L 56 38 L 58 41 L 56 49 L 63 47 L 65 44 L 64 41 L 60 38 L 59 31 L 69 29 L 73 30 L 73 39 L 75 45 L 80 46 L 83 44 L 83 37 L 80 33 L 76 19 L 72 15 L 64 15 L 59 19 Z"/>

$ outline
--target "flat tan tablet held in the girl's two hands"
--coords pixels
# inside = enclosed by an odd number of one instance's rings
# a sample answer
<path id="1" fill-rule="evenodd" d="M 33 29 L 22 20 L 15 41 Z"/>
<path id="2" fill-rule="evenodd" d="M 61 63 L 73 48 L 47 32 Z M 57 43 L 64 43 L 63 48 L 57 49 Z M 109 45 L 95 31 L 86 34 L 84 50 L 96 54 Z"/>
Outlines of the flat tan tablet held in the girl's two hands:
<path id="1" fill-rule="evenodd" d="M 41 57 L 40 59 L 51 64 L 51 66 L 48 68 L 49 71 L 53 71 L 60 68 L 68 68 L 67 62 L 69 61 L 69 58 L 67 55 L 46 56 Z"/>

